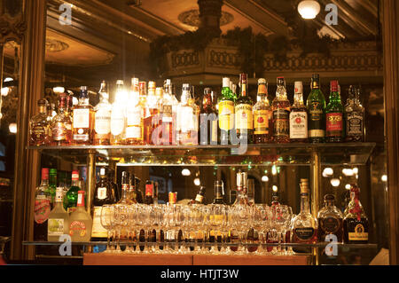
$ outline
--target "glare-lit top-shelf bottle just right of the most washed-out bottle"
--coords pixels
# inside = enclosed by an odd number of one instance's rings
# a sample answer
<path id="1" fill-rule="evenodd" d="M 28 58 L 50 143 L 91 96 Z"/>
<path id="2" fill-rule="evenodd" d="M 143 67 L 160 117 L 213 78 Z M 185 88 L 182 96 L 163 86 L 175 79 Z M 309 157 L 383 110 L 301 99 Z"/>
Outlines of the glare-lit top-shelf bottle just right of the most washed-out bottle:
<path id="1" fill-rule="evenodd" d="M 140 94 L 138 87 L 138 79 L 131 79 L 131 90 L 129 92 L 128 107 L 126 109 L 126 145 L 142 145 L 143 137 L 142 128 L 144 127 L 143 109 L 140 104 Z"/>

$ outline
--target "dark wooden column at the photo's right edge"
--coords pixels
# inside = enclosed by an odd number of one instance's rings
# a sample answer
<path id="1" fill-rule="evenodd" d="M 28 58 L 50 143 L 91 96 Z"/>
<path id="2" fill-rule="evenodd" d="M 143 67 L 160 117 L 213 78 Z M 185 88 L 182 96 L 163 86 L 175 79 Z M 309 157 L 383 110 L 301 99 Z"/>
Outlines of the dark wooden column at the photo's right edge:
<path id="1" fill-rule="evenodd" d="M 399 2 L 383 0 L 390 264 L 399 264 Z"/>

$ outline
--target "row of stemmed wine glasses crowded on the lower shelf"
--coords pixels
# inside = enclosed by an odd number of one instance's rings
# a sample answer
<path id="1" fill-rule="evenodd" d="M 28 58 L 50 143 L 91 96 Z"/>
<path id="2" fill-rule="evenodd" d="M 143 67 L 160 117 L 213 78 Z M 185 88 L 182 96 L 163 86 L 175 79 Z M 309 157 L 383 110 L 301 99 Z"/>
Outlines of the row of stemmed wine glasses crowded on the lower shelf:
<path id="1" fill-rule="evenodd" d="M 292 219 L 286 205 L 113 204 L 101 209 L 106 253 L 293 255 L 292 248 L 280 245 L 291 240 Z"/>

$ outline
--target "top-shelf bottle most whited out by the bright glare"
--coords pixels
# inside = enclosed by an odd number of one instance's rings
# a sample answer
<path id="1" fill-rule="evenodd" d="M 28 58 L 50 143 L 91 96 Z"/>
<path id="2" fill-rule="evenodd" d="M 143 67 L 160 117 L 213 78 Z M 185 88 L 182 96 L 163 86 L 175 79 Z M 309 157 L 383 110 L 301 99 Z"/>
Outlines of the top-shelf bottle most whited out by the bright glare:
<path id="1" fill-rule="evenodd" d="M 126 128 L 127 94 L 123 81 L 116 82 L 115 99 L 111 110 L 111 145 L 122 145 Z"/>

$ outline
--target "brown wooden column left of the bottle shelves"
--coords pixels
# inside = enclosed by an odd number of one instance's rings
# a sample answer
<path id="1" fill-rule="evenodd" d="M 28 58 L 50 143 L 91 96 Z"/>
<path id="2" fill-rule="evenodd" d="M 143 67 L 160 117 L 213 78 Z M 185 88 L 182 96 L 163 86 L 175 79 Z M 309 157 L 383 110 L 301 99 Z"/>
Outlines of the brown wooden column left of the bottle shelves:
<path id="1" fill-rule="evenodd" d="M 20 59 L 20 100 L 15 149 L 12 260 L 32 259 L 33 250 L 22 246 L 33 239 L 33 211 L 36 180 L 40 175 L 39 155 L 27 151 L 29 118 L 37 113 L 36 101 L 43 96 L 46 1 L 24 1 L 26 31 Z"/>

